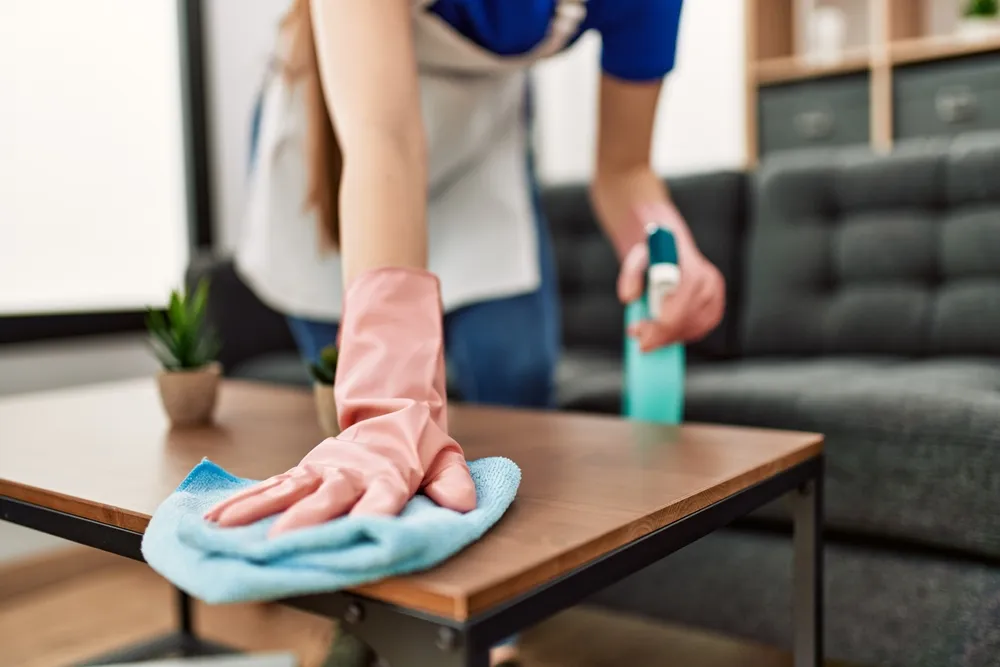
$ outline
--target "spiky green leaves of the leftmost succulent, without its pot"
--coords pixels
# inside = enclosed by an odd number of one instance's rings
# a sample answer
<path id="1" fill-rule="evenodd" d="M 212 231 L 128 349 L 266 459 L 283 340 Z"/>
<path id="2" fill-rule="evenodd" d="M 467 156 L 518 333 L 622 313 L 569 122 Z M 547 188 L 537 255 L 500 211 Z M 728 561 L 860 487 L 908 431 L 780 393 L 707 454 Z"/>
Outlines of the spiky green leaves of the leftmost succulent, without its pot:
<path id="1" fill-rule="evenodd" d="M 194 370 L 215 361 L 219 340 L 205 325 L 208 281 L 193 295 L 174 290 L 165 312 L 149 309 L 146 328 L 157 359 L 169 371 Z"/>

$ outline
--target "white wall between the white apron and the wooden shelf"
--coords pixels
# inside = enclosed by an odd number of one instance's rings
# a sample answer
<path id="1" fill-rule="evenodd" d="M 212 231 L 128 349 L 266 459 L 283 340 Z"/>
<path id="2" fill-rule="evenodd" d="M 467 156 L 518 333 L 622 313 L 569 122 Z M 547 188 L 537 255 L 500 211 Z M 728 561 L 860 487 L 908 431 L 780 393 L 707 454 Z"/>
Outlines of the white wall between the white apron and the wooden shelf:
<path id="1" fill-rule="evenodd" d="M 664 174 L 746 162 L 742 0 L 687 0 L 677 63 L 657 117 L 653 161 Z M 600 40 L 588 35 L 536 69 L 539 170 L 549 182 L 593 170 Z"/>

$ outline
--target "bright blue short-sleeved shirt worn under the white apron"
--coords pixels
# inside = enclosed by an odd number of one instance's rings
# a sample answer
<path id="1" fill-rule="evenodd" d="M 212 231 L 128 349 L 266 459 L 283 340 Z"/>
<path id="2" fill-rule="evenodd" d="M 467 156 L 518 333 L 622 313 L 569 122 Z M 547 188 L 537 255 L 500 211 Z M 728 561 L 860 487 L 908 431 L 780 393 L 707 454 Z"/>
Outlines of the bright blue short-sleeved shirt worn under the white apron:
<path id="1" fill-rule="evenodd" d="M 530 51 L 544 39 L 557 0 L 438 0 L 431 11 L 498 55 Z M 601 35 L 601 68 L 627 81 L 663 78 L 674 67 L 683 0 L 588 0 L 580 34 Z M 572 42 L 571 42 L 572 43 Z"/>

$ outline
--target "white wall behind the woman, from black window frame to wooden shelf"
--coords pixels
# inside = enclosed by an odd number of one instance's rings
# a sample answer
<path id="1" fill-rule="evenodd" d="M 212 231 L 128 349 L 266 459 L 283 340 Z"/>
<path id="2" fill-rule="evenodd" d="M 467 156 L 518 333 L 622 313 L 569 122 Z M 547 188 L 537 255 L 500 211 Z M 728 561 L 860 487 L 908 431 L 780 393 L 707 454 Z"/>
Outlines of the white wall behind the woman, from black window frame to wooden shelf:
<path id="1" fill-rule="evenodd" d="M 250 112 L 288 0 L 208 0 L 217 238 L 233 247 L 245 197 Z M 655 165 L 667 174 L 740 168 L 746 160 L 743 1 L 687 0 L 677 67 L 665 87 Z M 591 173 L 600 40 L 585 36 L 537 68 L 539 171 L 548 182 Z"/>

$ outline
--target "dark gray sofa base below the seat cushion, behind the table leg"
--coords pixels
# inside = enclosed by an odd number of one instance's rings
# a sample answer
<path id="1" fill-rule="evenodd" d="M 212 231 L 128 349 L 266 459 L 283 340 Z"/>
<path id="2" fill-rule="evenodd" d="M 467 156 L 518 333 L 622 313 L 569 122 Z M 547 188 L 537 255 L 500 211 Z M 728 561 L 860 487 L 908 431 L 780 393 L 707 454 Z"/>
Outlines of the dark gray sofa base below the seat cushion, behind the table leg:
<path id="1" fill-rule="evenodd" d="M 879 667 L 1000 663 L 1000 568 L 837 543 L 825 566 L 829 658 Z M 791 571 L 787 538 L 722 531 L 591 602 L 787 647 Z"/>

